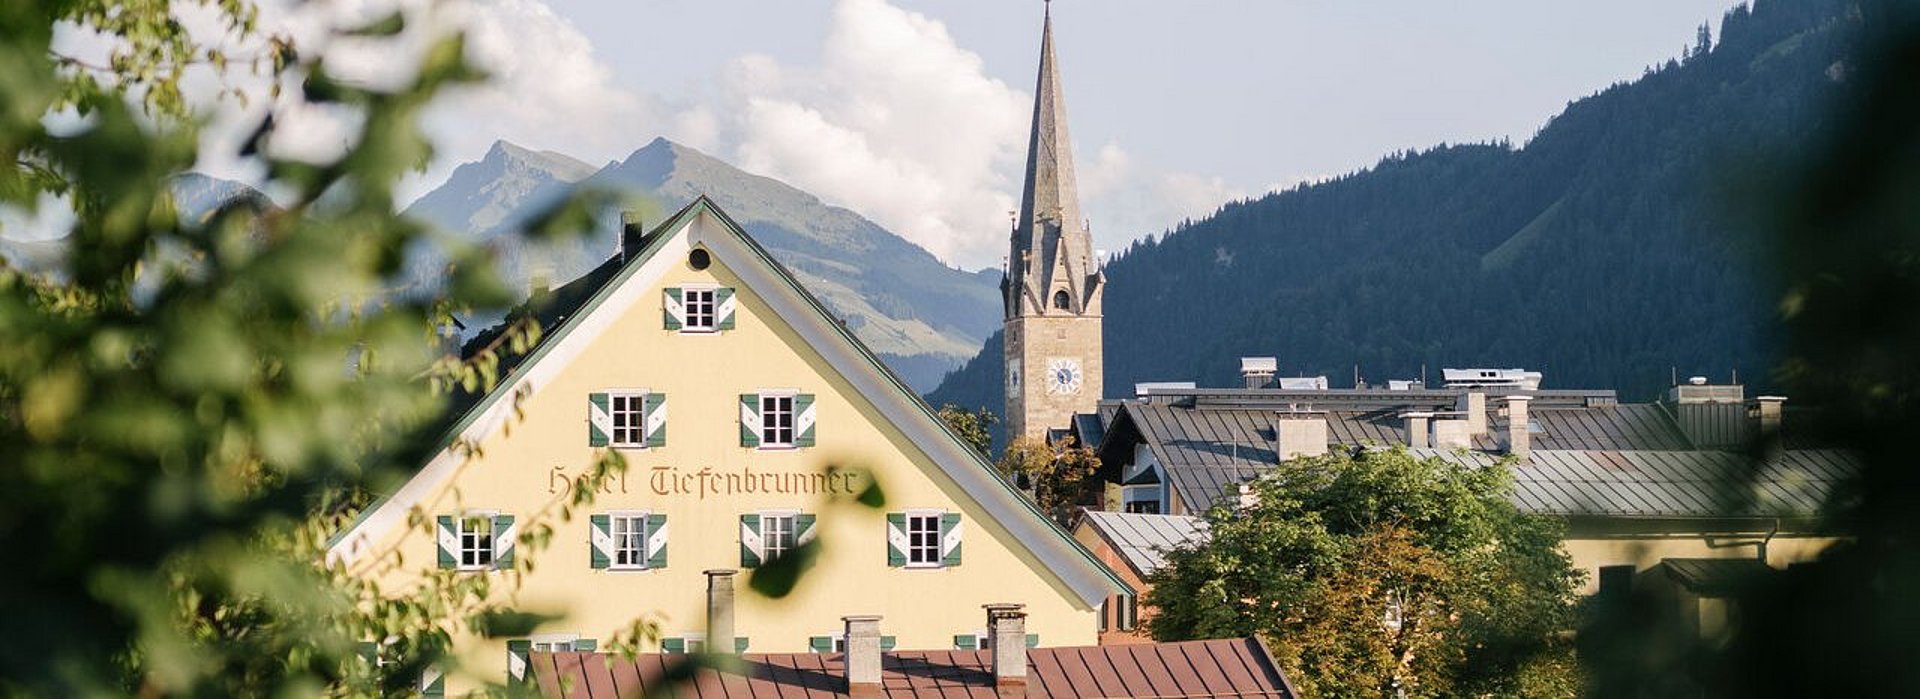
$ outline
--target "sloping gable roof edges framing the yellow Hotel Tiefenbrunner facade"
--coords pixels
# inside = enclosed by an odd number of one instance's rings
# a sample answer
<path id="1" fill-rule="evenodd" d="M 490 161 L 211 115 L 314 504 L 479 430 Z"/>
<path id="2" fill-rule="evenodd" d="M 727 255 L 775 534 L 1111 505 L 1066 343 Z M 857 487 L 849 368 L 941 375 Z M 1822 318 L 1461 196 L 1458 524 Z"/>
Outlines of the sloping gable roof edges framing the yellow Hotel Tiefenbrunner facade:
<path id="1" fill-rule="evenodd" d="M 760 300 L 789 325 L 806 344 L 820 353 L 866 401 L 874 403 L 879 415 L 891 419 L 893 426 L 906 434 L 925 455 L 941 467 L 981 509 L 1004 526 L 1029 553 L 1046 563 L 1046 568 L 1073 590 L 1083 603 L 1098 603 L 1110 593 L 1133 593 L 1112 570 L 1100 565 L 1068 532 L 1056 526 L 1031 501 L 1020 495 L 1014 486 L 1000 480 L 993 465 L 956 436 L 937 413 L 914 394 L 885 363 L 874 355 L 854 334 L 835 319 L 818 298 L 806 292 L 801 282 L 774 259 L 753 236 L 732 217 L 720 211 L 705 194 L 655 227 L 630 259 L 614 259 L 591 271 L 591 294 L 574 288 L 578 305 L 561 303 L 547 311 L 559 319 L 538 346 L 528 351 L 492 392 L 467 407 L 459 419 L 438 440 L 434 457 L 424 469 L 413 474 L 397 492 L 367 507 L 359 520 L 334 538 L 328 547 L 330 559 L 351 561 L 359 547 L 378 538 L 388 528 L 405 522 L 407 509 L 436 492 L 451 478 L 461 455 L 453 446 L 461 438 L 480 438 L 497 428 L 511 413 L 511 396 L 520 390 L 534 390 L 564 365 L 584 344 L 591 342 L 599 328 L 588 321 L 601 311 L 636 277 L 657 278 L 670 259 L 659 253 L 676 240 L 689 234 L 701 217 L 718 225 L 718 236 L 707 236 L 708 253 L 732 271 L 741 284 L 751 288 Z M 574 284 L 568 284 L 570 288 Z M 637 294 L 637 292 L 636 292 Z M 561 361 L 555 361 L 561 359 Z M 369 536 L 371 534 L 371 536 Z"/>

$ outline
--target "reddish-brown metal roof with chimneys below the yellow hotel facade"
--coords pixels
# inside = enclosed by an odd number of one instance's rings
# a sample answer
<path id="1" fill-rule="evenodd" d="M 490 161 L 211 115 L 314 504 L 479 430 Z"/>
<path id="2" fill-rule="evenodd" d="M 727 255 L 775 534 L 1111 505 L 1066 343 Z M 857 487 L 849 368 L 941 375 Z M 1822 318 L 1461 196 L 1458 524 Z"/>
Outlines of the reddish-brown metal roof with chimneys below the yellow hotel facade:
<path id="1" fill-rule="evenodd" d="M 730 670 L 687 672 L 684 655 L 534 653 L 545 697 L 845 697 L 841 653 L 745 655 Z M 881 657 L 887 697 L 996 697 L 987 651 L 910 651 Z M 691 676 L 689 676 L 691 674 Z M 564 687 L 564 689 L 563 689 Z M 1027 651 L 1029 697 L 1284 697 L 1298 693 L 1258 639 L 1037 647 Z"/>

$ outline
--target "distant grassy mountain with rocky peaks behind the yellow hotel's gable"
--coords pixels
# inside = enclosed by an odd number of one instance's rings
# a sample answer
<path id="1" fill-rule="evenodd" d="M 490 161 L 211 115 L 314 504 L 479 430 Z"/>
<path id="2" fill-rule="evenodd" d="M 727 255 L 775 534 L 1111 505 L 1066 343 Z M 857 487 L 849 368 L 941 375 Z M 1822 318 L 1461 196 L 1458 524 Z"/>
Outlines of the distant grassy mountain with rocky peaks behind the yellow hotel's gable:
<path id="1" fill-rule="evenodd" d="M 605 211 L 586 240 L 543 250 L 505 232 L 572 186 L 618 192 L 620 207 L 641 213 L 643 223 L 659 223 L 707 194 L 920 390 L 979 351 L 998 326 L 996 273 L 950 269 L 852 211 L 699 150 L 657 138 L 599 171 L 584 169 L 564 156 L 501 142 L 407 211 L 490 244 L 513 280 L 545 277 L 561 284 L 614 252 L 616 211 Z"/>

